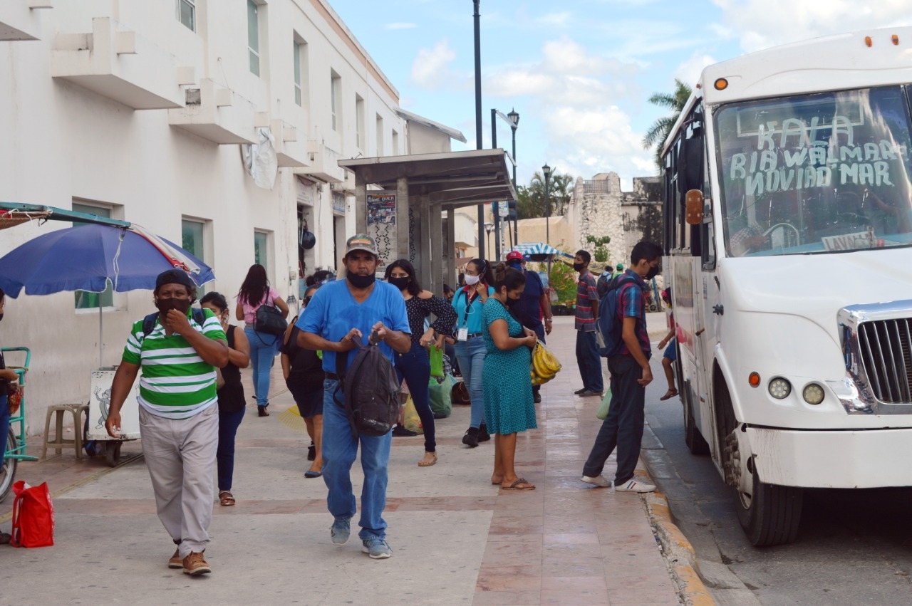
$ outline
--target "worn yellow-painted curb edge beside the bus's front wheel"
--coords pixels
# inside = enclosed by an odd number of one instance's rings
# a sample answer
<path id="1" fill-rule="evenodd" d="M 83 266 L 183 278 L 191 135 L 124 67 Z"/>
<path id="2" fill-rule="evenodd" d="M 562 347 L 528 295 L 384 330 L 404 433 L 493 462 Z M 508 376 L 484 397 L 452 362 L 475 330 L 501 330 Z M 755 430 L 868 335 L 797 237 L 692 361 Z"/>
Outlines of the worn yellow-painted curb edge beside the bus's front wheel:
<path id="1" fill-rule="evenodd" d="M 637 462 L 637 473 L 643 473 L 650 482 L 653 482 L 648 474 L 648 467 L 640 459 Z M 678 581 L 680 596 L 684 603 L 693 606 L 703 606 L 704 604 L 715 604 L 710 591 L 703 581 L 700 580 L 700 565 L 697 562 L 697 554 L 690 545 L 690 541 L 684 536 L 684 533 L 672 521 L 671 509 L 668 508 L 668 499 L 661 492 L 650 492 L 644 495 L 649 521 L 656 536 L 662 543 L 662 549 L 665 551 L 665 557 L 668 560 L 668 570 L 675 576 Z"/>

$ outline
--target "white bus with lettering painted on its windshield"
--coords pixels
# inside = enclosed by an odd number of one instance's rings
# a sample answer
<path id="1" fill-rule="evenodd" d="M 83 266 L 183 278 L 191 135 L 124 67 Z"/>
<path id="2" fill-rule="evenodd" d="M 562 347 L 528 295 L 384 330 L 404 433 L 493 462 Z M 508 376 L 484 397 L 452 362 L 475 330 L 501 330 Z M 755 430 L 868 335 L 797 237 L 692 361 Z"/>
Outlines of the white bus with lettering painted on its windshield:
<path id="1" fill-rule="evenodd" d="M 685 439 L 754 545 L 912 486 L 912 28 L 707 67 L 666 141 Z"/>

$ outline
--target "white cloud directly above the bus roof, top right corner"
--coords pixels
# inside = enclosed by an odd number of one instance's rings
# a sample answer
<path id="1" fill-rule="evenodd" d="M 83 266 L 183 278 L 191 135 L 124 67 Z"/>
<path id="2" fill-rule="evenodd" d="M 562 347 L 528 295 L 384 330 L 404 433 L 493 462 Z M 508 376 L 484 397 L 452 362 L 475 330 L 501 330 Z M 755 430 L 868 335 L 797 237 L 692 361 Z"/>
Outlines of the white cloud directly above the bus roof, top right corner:
<path id="1" fill-rule="evenodd" d="M 745 52 L 865 28 L 912 25 L 912 0 L 712 0 Z"/>

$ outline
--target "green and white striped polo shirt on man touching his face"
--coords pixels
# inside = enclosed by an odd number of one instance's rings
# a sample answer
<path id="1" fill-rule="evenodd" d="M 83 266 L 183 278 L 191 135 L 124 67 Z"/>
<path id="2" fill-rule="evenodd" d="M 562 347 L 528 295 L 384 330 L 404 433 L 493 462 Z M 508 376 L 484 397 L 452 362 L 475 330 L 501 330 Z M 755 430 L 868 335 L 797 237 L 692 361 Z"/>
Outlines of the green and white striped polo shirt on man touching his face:
<path id="1" fill-rule="evenodd" d="M 187 312 L 193 330 L 227 342 L 215 314 L 208 309 L 202 311 L 205 314 L 202 326 Z M 152 415 L 190 418 L 218 401 L 215 367 L 203 361 L 180 334 L 167 336 L 158 320 L 150 334 L 142 334 L 142 320 L 133 324 L 123 349 L 123 361 L 142 367 L 137 400 Z"/>

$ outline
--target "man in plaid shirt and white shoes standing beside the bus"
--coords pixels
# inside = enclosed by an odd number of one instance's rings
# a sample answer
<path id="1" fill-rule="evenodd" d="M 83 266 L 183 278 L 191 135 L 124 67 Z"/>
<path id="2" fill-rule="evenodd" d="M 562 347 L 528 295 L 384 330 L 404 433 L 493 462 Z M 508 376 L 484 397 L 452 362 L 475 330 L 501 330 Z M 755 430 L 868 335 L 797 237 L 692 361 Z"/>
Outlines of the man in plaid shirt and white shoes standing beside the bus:
<path id="1" fill-rule="evenodd" d="M 652 492 L 656 487 L 634 478 L 639 447 L 643 440 L 646 385 L 652 382 L 649 357 L 652 350 L 646 330 L 646 280 L 661 271 L 662 248 L 655 242 L 640 241 L 630 254 L 630 267 L 617 278 L 617 288 L 606 293 L 602 307 L 614 310 L 615 317 L 604 314 L 600 323 L 605 337 L 608 370 L 611 372 L 611 403 L 608 416 L 596 436 L 586 459 L 582 480 L 587 484 L 611 486 L 602 476 L 605 461 L 617 447 L 617 492 Z M 608 297 L 617 297 L 607 301 Z M 614 330 L 614 328 L 618 330 Z"/>

